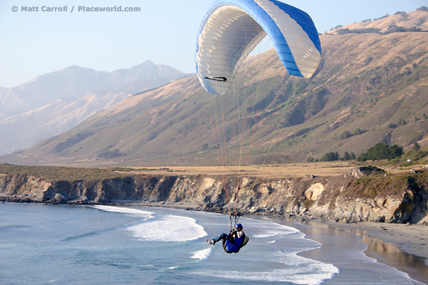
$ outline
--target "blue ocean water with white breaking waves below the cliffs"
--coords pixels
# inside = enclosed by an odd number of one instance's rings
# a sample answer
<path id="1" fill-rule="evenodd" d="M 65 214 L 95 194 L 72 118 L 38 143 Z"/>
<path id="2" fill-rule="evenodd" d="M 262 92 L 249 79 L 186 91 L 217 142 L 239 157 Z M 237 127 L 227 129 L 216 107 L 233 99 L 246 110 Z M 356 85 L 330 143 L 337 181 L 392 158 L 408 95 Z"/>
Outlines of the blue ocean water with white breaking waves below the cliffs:
<path id="1" fill-rule="evenodd" d="M 222 214 L 2 203 L 0 217 L 0 284 L 415 284 L 360 249 L 301 257 L 322 244 L 268 219 L 241 218 L 250 242 L 227 254 L 205 242 L 228 232 Z"/>

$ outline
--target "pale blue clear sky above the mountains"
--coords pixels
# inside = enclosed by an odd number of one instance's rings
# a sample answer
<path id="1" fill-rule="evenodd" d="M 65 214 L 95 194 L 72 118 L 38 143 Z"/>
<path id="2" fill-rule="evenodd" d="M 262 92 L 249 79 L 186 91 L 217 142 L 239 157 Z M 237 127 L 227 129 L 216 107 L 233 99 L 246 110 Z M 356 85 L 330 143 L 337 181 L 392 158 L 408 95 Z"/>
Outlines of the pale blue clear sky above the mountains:
<path id="1" fill-rule="evenodd" d="M 427 6 L 427 0 L 282 1 L 310 14 L 320 33 L 337 25 Z M 198 29 L 213 2 L 0 0 L 0 86 L 19 86 L 73 65 L 114 71 L 147 60 L 194 73 Z M 66 12 L 41 11 L 63 6 Z M 78 11 L 79 6 L 136 7 L 140 11 Z M 22 11 L 25 7 L 27 11 Z M 38 11 L 29 11 L 33 10 L 29 7 L 38 7 Z M 268 43 L 260 46 L 258 52 L 270 48 Z"/>

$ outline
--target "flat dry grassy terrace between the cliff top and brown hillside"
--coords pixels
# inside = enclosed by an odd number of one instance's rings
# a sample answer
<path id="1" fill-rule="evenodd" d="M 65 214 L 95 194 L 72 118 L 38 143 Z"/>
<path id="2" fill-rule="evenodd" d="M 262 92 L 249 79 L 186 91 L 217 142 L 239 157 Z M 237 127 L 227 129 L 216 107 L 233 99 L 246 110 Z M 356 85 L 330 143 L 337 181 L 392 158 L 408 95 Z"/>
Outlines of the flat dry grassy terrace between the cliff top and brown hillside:
<path id="1" fill-rule="evenodd" d="M 410 170 L 421 170 L 427 165 L 427 161 L 422 161 L 418 165 L 402 167 L 390 165 L 388 162 L 311 162 L 294 163 L 284 165 L 248 165 L 234 167 L 219 166 L 164 166 L 164 167 L 108 167 L 95 165 L 62 165 L 62 166 L 21 166 L 21 165 L 0 165 L 0 173 L 9 175 L 27 174 L 36 177 L 43 177 L 47 180 L 110 180 L 116 177 L 126 177 L 130 175 L 240 175 L 247 177 L 259 177 L 263 179 L 279 180 L 291 177 L 314 176 L 339 176 L 352 168 L 372 165 L 385 170 L 391 174 L 407 174 Z"/>

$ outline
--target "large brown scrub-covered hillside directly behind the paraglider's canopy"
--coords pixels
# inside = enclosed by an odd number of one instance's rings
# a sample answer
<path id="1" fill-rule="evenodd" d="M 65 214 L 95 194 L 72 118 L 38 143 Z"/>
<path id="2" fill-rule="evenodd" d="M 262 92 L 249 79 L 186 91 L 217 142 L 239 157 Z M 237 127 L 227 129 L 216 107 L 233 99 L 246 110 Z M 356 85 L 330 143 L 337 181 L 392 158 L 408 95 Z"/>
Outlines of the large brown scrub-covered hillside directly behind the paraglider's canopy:
<path id="1" fill-rule="evenodd" d="M 377 142 L 427 147 L 428 33 L 358 31 L 320 39 L 322 63 L 310 79 L 289 76 L 270 50 L 245 61 L 238 86 L 224 97 L 205 92 L 195 76 L 182 78 L 0 162 L 218 165 L 218 152 L 236 157 L 242 145 L 241 163 L 250 150 L 249 163 L 275 164 L 332 151 L 358 155 Z M 240 128 L 242 140 L 235 135 Z"/>

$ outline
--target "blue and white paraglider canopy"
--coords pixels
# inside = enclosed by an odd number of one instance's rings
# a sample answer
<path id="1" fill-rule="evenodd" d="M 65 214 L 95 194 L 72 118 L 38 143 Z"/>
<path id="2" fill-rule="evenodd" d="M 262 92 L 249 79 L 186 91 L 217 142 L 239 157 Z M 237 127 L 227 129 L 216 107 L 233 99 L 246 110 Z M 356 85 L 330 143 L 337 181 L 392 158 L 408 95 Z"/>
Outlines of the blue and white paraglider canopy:
<path id="1" fill-rule="evenodd" d="M 310 78 L 317 71 L 320 37 L 304 11 L 275 0 L 221 0 L 205 16 L 196 45 L 196 68 L 205 90 L 225 95 L 266 35 L 291 75 Z"/>

